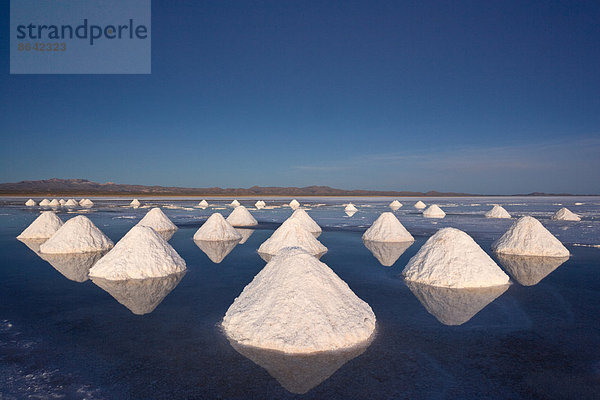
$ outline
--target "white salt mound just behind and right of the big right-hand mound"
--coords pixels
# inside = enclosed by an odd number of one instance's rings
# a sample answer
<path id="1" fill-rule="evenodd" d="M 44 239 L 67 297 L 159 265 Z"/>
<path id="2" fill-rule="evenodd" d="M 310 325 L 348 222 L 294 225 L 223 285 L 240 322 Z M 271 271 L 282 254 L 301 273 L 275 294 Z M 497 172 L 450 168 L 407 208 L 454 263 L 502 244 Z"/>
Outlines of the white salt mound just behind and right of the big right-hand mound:
<path id="1" fill-rule="evenodd" d="M 521 256 L 569 257 L 569 250 L 533 217 L 521 217 L 492 244 L 492 250 Z"/>

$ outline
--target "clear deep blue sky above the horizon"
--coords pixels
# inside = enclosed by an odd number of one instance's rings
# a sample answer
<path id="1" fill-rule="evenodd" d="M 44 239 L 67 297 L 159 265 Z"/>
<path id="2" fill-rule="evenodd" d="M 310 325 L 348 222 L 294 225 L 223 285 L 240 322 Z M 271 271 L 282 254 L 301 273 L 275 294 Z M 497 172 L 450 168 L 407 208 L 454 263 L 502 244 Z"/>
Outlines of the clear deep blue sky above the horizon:
<path id="1" fill-rule="evenodd" d="M 152 1 L 151 75 L 9 75 L 0 181 L 600 193 L 599 1 Z"/>

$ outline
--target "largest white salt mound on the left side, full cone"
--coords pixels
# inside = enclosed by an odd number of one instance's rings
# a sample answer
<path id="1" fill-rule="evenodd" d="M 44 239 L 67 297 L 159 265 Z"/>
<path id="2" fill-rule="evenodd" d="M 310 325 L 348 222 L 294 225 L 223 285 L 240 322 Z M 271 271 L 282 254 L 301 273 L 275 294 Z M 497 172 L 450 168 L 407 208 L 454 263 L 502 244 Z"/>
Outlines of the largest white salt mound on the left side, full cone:
<path id="1" fill-rule="evenodd" d="M 154 229 L 134 226 L 91 269 L 112 281 L 159 278 L 185 271 L 185 261 Z"/>

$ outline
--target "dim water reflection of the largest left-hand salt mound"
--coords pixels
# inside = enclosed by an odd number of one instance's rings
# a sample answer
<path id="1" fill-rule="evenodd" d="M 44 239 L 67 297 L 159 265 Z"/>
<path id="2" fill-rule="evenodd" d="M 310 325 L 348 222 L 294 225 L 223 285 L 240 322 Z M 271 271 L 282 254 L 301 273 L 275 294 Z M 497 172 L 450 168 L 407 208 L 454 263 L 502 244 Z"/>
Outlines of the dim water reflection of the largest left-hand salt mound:
<path id="1" fill-rule="evenodd" d="M 125 281 L 111 281 L 92 277 L 92 282 L 108 292 L 132 313 L 144 315 L 154 311 L 165 297 L 175 289 L 184 275 L 185 271 L 160 278 Z"/>

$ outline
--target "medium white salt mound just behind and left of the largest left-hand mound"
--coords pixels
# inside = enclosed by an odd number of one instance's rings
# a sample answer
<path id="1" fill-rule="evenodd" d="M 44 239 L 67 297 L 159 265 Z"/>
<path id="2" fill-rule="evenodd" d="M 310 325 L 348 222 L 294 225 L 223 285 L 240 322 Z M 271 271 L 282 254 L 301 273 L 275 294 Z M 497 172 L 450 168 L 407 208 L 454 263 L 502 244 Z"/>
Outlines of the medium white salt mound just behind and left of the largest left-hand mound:
<path id="1" fill-rule="evenodd" d="M 113 247 L 110 240 L 92 221 L 83 215 L 71 218 L 40 246 L 41 253 L 89 253 Z"/>

